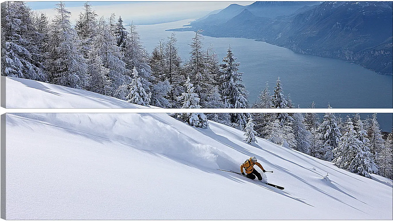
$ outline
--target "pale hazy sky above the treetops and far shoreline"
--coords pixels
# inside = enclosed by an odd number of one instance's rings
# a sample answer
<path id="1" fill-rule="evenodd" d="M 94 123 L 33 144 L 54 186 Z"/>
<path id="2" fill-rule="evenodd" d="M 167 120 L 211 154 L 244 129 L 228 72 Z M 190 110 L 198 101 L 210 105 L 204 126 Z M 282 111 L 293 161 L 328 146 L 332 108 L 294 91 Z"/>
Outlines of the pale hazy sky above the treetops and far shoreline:
<path id="1" fill-rule="evenodd" d="M 42 11 L 48 16 L 55 15 L 53 5 L 57 2 L 28 2 L 33 10 Z M 72 22 L 81 12 L 84 1 L 65 2 L 66 8 L 72 13 Z M 152 24 L 200 18 L 211 11 L 223 9 L 230 4 L 249 5 L 253 2 L 94 2 L 90 4 L 99 16 L 108 18 L 111 13 L 121 15 L 125 23 L 132 20 L 136 24 Z"/>

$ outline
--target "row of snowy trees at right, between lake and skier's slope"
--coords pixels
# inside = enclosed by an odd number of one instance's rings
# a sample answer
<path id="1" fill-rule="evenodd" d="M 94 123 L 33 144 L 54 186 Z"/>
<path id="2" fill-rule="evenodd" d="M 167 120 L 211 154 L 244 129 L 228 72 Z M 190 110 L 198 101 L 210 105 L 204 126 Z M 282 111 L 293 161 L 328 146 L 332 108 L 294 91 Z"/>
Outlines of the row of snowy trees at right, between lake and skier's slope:
<path id="1" fill-rule="evenodd" d="M 295 108 L 290 95 L 284 95 L 278 78 L 274 92 L 269 84 L 258 96 L 253 108 Z M 299 106 L 297 107 L 299 108 Z M 315 108 L 315 103 L 309 106 Z M 327 108 L 332 108 L 328 104 Z M 322 121 L 316 113 L 252 113 L 246 125 L 246 142 L 255 136 L 371 178 L 379 174 L 393 178 L 393 130 L 383 139 L 377 114 L 361 119 L 359 113 L 345 119 L 325 113 Z"/>

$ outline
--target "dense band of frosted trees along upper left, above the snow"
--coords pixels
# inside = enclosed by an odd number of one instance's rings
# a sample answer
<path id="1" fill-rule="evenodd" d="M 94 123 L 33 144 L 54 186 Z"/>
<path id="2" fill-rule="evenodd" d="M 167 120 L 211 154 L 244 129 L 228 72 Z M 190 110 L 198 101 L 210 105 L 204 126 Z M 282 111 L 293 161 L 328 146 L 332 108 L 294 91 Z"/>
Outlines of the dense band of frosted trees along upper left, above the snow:
<path id="1" fill-rule="evenodd" d="M 24 2 L 4 2 L 2 75 L 79 88 L 143 106 L 162 108 L 246 108 L 247 94 L 231 48 L 220 64 L 213 46 L 203 48 L 202 30 L 190 42 L 190 57 L 178 55 L 176 35 L 143 47 L 137 26 L 121 16 L 95 14 L 89 2 L 72 26 L 64 2 L 53 19 Z M 244 128 L 248 115 L 178 114 L 206 127 L 207 119 Z"/>

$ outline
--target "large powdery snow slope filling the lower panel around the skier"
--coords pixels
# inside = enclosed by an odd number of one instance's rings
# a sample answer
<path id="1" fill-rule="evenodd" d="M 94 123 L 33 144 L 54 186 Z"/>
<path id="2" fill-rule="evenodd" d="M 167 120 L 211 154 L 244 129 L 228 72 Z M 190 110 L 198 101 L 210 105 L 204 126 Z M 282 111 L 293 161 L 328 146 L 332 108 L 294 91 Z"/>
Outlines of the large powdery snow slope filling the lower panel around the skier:
<path id="1" fill-rule="evenodd" d="M 392 219 L 391 180 L 264 139 L 249 145 L 215 122 L 197 129 L 163 113 L 5 119 L 7 219 Z M 285 190 L 217 170 L 239 171 L 253 155 Z"/>

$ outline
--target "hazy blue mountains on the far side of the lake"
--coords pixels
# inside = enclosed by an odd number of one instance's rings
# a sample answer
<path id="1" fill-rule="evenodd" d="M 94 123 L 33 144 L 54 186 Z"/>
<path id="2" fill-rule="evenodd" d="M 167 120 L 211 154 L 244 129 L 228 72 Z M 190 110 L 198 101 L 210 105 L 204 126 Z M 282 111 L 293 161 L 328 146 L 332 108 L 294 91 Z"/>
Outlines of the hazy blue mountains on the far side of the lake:
<path id="1" fill-rule="evenodd" d="M 303 54 L 339 58 L 392 74 L 392 2 L 231 4 L 172 31 L 242 37 Z"/>

